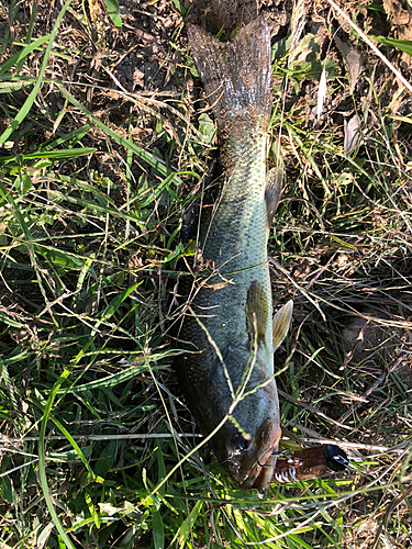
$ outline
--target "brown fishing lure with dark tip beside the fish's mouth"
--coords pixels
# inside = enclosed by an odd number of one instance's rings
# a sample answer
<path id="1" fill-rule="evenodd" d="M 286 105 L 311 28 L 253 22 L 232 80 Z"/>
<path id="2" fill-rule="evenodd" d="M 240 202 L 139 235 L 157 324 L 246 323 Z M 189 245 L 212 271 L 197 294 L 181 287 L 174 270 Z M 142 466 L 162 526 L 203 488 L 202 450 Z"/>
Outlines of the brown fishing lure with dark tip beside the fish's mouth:
<path id="1" fill-rule="evenodd" d="M 313 446 L 278 457 L 272 480 L 297 482 L 320 479 L 350 469 L 346 452 L 336 445 Z"/>

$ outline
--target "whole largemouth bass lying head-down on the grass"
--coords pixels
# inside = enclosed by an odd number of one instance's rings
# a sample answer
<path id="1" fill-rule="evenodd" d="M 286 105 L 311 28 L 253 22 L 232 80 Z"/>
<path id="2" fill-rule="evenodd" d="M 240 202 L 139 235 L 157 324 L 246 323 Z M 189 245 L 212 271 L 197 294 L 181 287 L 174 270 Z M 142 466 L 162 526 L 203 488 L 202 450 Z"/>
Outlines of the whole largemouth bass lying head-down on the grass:
<path id="1" fill-rule="evenodd" d="M 198 74 L 218 125 L 222 183 L 201 214 L 203 270 L 189 296 L 182 337 L 192 344 L 178 376 L 219 461 L 243 488 L 265 490 L 281 436 L 274 350 L 288 330 L 291 302 L 272 320 L 267 260 L 281 177 L 267 178 L 271 112 L 270 34 L 264 19 L 221 43 L 188 27 Z"/>

